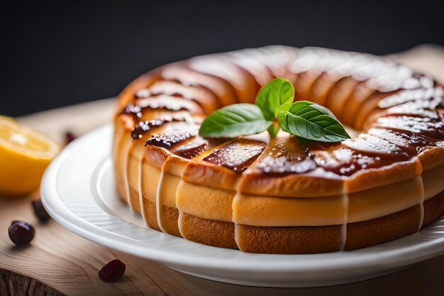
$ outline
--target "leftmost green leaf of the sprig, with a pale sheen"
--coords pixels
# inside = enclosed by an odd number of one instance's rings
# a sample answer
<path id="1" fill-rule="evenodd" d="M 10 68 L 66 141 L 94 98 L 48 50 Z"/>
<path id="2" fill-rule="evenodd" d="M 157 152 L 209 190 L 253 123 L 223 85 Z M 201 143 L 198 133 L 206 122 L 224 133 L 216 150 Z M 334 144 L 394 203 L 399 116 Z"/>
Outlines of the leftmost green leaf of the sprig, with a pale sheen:
<path id="1" fill-rule="evenodd" d="M 218 109 L 206 117 L 199 136 L 235 138 L 267 131 L 272 124 L 264 118 L 260 108 L 253 104 L 233 104 Z"/>

